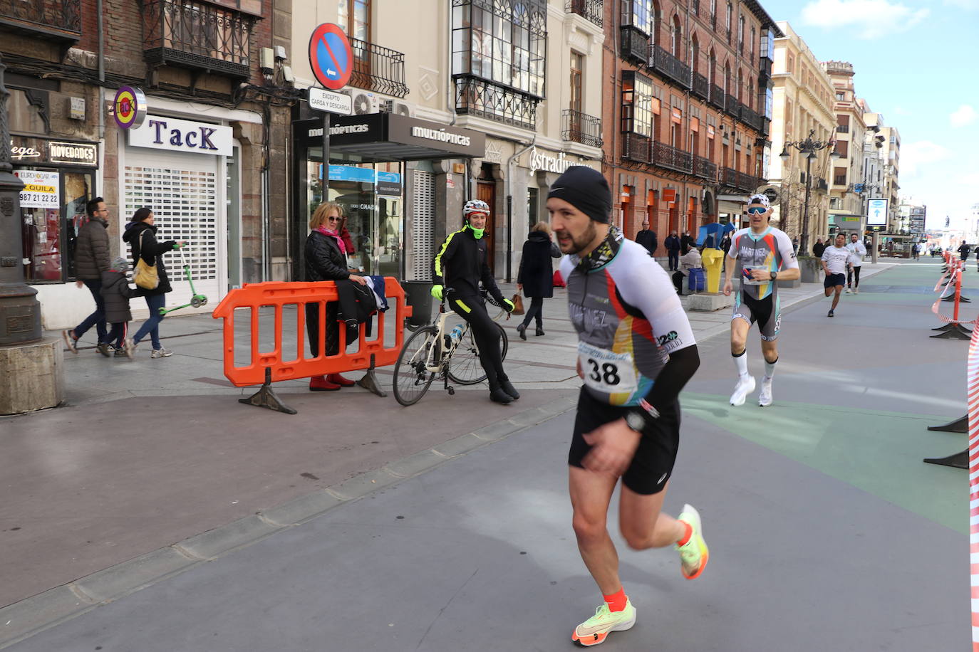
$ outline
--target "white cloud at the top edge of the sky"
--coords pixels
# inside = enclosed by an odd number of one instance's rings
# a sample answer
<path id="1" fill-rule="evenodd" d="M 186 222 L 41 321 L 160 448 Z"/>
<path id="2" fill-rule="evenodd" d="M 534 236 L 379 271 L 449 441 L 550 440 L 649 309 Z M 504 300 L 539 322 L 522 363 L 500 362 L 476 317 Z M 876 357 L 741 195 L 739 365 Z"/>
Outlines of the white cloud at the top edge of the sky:
<path id="1" fill-rule="evenodd" d="M 928 13 L 927 9 L 911 9 L 888 0 L 814 0 L 803 7 L 802 21 L 827 28 L 853 26 L 859 38 L 871 39 L 906 31 Z"/>

